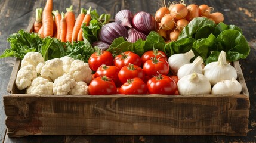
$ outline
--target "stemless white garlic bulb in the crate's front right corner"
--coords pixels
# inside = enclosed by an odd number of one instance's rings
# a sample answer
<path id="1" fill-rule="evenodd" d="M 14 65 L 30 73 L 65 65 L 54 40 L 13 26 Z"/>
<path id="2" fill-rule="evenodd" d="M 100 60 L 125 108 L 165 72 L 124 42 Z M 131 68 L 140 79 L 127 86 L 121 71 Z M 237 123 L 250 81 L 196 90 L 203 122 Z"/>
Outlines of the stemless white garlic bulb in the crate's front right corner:
<path id="1" fill-rule="evenodd" d="M 238 80 L 222 80 L 212 87 L 211 94 L 240 94 L 242 85 Z"/>

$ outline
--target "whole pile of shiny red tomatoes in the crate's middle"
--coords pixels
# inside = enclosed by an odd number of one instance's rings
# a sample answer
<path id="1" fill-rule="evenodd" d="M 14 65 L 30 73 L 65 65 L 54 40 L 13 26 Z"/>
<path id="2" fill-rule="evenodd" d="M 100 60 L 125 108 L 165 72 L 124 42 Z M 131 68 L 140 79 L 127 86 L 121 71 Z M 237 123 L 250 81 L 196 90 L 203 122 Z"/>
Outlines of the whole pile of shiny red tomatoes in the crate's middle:
<path id="1" fill-rule="evenodd" d="M 91 95 L 178 94 L 178 78 L 169 75 L 167 56 L 162 51 L 147 51 L 141 57 L 131 51 L 116 57 L 108 51 L 97 52 L 88 64 L 95 72 L 89 85 Z"/>

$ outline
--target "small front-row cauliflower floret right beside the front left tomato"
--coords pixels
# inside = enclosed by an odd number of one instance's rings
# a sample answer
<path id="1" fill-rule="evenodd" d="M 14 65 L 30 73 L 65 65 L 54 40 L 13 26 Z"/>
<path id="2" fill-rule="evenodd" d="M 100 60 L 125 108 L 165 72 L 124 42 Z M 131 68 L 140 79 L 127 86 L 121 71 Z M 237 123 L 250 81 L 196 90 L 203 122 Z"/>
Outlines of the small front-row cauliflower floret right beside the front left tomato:
<path id="1" fill-rule="evenodd" d="M 85 82 L 76 82 L 76 85 L 71 89 L 69 94 L 72 95 L 87 95 L 89 94 L 89 87 Z"/>

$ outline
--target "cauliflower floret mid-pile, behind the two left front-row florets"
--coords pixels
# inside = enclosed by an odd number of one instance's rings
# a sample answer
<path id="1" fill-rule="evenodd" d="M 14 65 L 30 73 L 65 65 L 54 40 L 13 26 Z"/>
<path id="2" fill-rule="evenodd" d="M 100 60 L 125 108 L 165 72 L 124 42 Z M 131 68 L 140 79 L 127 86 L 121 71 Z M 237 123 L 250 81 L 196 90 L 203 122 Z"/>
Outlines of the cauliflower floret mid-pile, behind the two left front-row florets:
<path id="1" fill-rule="evenodd" d="M 63 63 L 60 58 L 54 58 L 46 61 L 45 64 L 39 63 L 38 66 L 36 66 L 36 72 L 41 74 L 41 76 L 50 77 L 54 81 L 63 75 L 64 71 L 62 66 Z"/>

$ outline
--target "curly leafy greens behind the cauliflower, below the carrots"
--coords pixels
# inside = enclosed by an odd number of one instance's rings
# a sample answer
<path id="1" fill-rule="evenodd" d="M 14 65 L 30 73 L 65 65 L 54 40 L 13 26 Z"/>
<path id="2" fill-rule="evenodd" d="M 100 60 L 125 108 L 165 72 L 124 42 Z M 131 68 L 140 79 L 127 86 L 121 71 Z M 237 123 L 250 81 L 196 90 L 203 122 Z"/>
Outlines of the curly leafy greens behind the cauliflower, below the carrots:
<path id="1" fill-rule="evenodd" d="M 61 42 L 50 37 L 42 39 L 36 33 L 29 33 L 23 29 L 11 34 L 7 41 L 10 42 L 10 48 L 5 49 L 0 58 L 17 57 L 23 59 L 27 52 L 33 51 L 41 53 L 45 61 L 68 55 L 88 62 L 88 58 L 94 52 L 94 48 L 86 39 L 73 43 Z"/>

